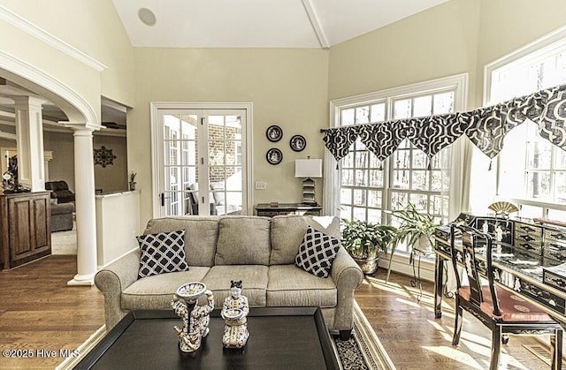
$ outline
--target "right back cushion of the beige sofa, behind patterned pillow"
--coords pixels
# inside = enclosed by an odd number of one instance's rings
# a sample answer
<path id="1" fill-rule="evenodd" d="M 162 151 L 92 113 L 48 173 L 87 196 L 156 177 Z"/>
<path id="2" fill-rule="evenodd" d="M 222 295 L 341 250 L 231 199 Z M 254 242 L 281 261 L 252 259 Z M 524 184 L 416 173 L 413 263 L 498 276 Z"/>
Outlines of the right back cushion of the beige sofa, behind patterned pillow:
<path id="1" fill-rule="evenodd" d="M 332 216 L 276 215 L 272 218 L 270 265 L 290 265 L 299 251 L 308 226 L 334 238 L 340 236 L 340 222 Z"/>

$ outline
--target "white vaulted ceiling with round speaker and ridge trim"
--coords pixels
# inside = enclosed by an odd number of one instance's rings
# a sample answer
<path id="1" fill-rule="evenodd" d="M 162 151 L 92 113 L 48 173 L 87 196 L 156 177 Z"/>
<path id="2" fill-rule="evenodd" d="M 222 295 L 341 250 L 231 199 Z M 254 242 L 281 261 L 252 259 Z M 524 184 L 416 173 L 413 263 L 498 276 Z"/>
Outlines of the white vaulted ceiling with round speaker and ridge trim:
<path id="1" fill-rule="evenodd" d="M 134 47 L 328 48 L 448 0 L 112 0 Z"/>

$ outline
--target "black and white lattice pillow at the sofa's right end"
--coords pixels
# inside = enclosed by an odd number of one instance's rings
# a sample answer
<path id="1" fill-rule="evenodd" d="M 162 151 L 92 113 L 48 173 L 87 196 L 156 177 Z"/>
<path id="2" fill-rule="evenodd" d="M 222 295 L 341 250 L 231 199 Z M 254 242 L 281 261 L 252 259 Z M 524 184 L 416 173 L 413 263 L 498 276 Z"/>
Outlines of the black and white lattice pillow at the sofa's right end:
<path id="1" fill-rule="evenodd" d="M 309 226 L 294 263 L 314 276 L 328 277 L 339 249 L 339 239 Z"/>

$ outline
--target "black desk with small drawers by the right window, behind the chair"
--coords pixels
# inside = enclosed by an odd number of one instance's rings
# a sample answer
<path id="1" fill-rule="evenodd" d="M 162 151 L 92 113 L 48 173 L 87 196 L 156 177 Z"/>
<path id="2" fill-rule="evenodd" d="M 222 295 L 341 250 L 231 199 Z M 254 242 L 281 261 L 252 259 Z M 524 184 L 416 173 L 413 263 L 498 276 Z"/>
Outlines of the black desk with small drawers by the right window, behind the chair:
<path id="1" fill-rule="evenodd" d="M 543 280 L 545 268 L 566 262 L 566 229 L 526 219 L 466 214 L 460 215 L 455 222 L 487 230 L 488 233 L 501 233 L 501 242 L 494 242 L 492 253 L 495 283 L 515 291 L 556 319 L 566 322 L 566 278 L 553 283 Z M 440 226 L 434 233 L 434 313 L 437 318 L 442 315 L 444 263 L 451 261 L 449 233 L 449 226 Z M 455 242 L 458 244 L 459 240 L 456 239 Z M 485 255 L 486 248 L 483 249 L 477 248 L 476 253 Z"/>

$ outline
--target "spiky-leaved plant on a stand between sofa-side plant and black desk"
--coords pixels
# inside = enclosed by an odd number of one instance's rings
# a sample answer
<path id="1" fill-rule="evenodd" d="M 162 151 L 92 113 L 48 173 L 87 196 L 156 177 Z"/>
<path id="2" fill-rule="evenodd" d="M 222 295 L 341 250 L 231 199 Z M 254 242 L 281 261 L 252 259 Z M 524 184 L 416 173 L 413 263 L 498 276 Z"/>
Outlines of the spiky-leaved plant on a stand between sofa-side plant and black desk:
<path id="1" fill-rule="evenodd" d="M 399 218 L 402 222 L 397 228 L 397 233 L 392 243 L 392 255 L 397 244 L 404 243 L 405 241 L 410 248 L 410 261 L 413 259 L 413 249 L 416 246 L 422 251 L 432 247 L 432 234 L 434 229 L 440 226 L 440 223 L 434 222 L 432 215 L 419 212 L 417 206 L 410 201 L 407 207 L 392 211 L 392 215 Z M 391 269 L 391 259 L 389 259 L 389 269 Z M 386 280 L 389 280 L 389 271 L 387 272 Z"/>

